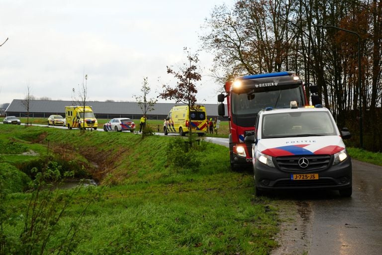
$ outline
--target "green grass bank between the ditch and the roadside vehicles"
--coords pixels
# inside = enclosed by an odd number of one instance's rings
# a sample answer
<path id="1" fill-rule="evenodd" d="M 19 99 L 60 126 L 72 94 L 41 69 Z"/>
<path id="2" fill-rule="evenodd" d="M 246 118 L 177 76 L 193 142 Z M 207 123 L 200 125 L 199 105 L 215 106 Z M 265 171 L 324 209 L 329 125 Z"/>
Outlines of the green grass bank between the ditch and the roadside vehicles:
<path id="1" fill-rule="evenodd" d="M 49 141 L 51 151 L 98 164 L 93 174 L 104 184 L 96 188 L 103 196 L 83 218 L 78 254 L 268 254 L 277 246 L 272 201 L 254 196 L 250 173 L 229 170 L 226 147 L 206 144 L 202 164 L 190 170 L 168 163 L 167 145 L 176 137 L 0 125 L 0 140 L 10 137 L 28 148 L 46 149 Z M 16 219 L 4 226 L 9 237 L 17 239 L 23 228 L 17 219 L 29 196 L 14 193 L 5 200 Z M 76 221 L 87 197 L 85 191 L 75 197 L 62 231 Z"/>

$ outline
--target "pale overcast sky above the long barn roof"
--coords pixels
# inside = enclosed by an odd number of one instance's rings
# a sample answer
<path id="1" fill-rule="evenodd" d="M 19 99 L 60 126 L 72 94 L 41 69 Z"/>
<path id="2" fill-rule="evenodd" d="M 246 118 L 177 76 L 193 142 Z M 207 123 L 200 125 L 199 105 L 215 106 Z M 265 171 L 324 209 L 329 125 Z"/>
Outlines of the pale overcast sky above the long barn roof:
<path id="1" fill-rule="evenodd" d="M 134 101 L 148 77 L 156 97 L 166 73 L 185 62 L 183 47 L 196 51 L 200 26 L 215 5 L 232 0 L 1 0 L 0 104 L 36 98 L 72 100 L 72 88 L 88 74 L 88 97 Z M 198 103 L 216 103 L 219 84 L 205 68 Z M 166 102 L 161 100 L 160 102 Z"/>

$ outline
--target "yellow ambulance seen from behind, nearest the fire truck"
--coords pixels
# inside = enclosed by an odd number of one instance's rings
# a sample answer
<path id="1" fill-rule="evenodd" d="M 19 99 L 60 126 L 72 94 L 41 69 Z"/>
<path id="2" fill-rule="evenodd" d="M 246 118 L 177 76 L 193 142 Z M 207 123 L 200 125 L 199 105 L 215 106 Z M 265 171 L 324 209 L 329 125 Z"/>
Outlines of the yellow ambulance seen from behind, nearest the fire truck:
<path id="1" fill-rule="evenodd" d="M 163 123 L 163 132 L 186 135 L 191 132 L 203 136 L 207 131 L 207 117 L 204 106 L 197 106 L 189 111 L 188 106 L 174 106 Z"/>

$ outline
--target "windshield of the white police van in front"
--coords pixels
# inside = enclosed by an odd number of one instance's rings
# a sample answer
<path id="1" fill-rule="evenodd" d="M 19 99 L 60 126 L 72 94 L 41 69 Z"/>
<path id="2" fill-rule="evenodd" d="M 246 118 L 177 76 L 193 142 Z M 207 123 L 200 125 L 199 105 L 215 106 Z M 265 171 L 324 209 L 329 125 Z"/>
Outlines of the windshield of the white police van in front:
<path id="1" fill-rule="evenodd" d="M 326 112 L 295 112 L 264 115 L 262 138 L 337 135 Z"/>

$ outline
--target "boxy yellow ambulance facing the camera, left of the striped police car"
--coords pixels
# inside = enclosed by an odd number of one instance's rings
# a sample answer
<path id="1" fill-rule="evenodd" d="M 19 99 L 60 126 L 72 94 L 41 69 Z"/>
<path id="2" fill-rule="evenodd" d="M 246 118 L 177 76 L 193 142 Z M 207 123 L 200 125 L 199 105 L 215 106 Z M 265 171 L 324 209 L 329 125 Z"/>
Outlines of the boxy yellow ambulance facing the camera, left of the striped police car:
<path id="1" fill-rule="evenodd" d="M 93 109 L 91 106 L 66 106 L 65 107 L 65 120 L 69 129 L 72 128 L 93 128 L 97 129 L 98 123 L 95 119 Z"/>

